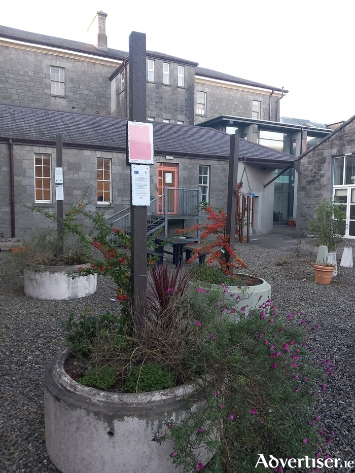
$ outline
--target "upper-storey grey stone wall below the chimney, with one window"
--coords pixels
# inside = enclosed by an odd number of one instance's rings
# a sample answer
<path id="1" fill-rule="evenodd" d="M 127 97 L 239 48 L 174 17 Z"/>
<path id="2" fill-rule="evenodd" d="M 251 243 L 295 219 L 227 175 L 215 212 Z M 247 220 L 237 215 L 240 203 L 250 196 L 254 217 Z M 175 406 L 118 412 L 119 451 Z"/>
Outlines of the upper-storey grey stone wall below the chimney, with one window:
<path id="1" fill-rule="evenodd" d="M 65 112 L 111 114 L 114 66 L 0 46 L 0 101 Z M 65 69 L 65 96 L 51 95 L 50 66 Z"/>

